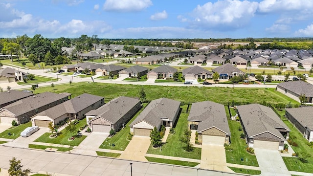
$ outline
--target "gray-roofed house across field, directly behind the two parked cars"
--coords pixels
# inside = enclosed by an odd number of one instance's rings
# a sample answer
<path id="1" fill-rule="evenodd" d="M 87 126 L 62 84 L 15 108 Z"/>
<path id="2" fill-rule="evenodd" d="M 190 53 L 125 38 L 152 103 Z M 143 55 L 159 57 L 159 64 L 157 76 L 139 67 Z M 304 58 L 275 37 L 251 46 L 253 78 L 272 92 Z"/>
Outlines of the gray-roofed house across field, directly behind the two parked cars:
<path id="1" fill-rule="evenodd" d="M 185 80 L 197 80 L 198 78 L 205 80 L 207 78 L 212 78 L 212 74 L 211 71 L 200 66 L 191 66 L 182 70 L 182 75 Z"/>

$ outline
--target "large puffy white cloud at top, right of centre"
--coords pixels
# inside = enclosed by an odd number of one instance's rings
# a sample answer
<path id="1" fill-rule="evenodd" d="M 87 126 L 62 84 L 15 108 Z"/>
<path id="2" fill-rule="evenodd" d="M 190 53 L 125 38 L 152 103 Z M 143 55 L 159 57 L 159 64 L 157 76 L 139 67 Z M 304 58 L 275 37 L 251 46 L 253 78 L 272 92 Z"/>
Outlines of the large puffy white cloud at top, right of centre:
<path id="1" fill-rule="evenodd" d="M 254 16 L 258 2 L 247 0 L 219 0 L 198 5 L 192 12 L 193 27 L 239 28 L 245 26 Z"/>

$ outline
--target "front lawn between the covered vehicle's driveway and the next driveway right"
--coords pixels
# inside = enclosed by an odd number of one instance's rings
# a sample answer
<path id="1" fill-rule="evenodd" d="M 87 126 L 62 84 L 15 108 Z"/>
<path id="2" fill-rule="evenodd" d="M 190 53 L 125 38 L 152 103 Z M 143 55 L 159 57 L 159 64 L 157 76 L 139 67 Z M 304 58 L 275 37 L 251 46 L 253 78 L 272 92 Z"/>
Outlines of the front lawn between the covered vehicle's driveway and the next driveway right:
<path id="1" fill-rule="evenodd" d="M 86 124 L 86 118 L 79 120 L 79 123 L 75 125 L 76 130 L 75 133 L 72 135 L 75 135 L 76 132 L 79 130 L 81 126 L 84 126 Z M 67 132 L 66 129 L 62 130 L 58 133 L 58 136 L 56 138 L 49 138 L 50 132 L 46 132 L 39 138 L 35 140 L 35 142 L 45 142 L 45 143 L 52 143 L 52 144 L 62 144 L 62 145 L 69 145 L 69 146 L 78 146 L 83 140 L 87 137 L 85 135 L 76 136 L 73 141 L 68 141 L 67 139 L 70 138 L 70 132 Z"/>

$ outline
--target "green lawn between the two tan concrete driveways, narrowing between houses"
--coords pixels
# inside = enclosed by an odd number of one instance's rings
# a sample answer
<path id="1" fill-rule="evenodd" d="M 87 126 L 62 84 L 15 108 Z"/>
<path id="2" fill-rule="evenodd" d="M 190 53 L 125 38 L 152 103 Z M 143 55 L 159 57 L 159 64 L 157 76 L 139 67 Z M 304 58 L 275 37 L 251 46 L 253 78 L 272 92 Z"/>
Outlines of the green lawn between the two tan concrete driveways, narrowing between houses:
<path id="1" fill-rule="evenodd" d="M 187 105 L 184 106 L 184 112 L 186 112 Z M 162 145 L 162 151 L 155 149 L 150 145 L 147 154 L 160 154 L 167 156 L 177 156 L 192 159 L 201 159 L 201 148 L 194 148 L 192 152 L 186 152 L 182 146 L 184 145 L 179 141 L 185 129 L 188 128 L 188 113 L 181 112 L 177 125 L 175 127 L 175 134 L 169 134 L 166 143 Z"/>

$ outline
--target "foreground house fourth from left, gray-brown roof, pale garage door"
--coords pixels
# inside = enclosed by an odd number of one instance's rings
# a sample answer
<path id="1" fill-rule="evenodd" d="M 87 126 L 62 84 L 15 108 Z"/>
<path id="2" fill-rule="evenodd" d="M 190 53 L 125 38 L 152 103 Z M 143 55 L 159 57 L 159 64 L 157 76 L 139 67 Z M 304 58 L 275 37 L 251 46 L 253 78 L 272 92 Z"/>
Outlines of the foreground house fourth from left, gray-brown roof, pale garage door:
<path id="1" fill-rule="evenodd" d="M 120 96 L 102 107 L 86 113 L 87 123 L 92 132 L 117 132 L 141 109 L 139 99 Z"/>

